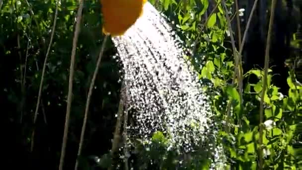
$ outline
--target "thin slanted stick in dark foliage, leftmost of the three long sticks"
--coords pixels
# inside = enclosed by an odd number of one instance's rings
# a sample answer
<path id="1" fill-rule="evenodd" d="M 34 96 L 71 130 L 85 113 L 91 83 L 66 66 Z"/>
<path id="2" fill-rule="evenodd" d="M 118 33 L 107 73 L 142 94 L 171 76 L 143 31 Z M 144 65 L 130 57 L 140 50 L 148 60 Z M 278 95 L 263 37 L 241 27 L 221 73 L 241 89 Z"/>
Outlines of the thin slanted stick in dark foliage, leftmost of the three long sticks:
<path id="1" fill-rule="evenodd" d="M 34 125 L 36 124 L 37 117 L 38 117 L 38 109 L 39 109 L 39 105 L 40 105 L 40 101 L 41 101 L 42 86 L 43 86 L 43 81 L 44 81 L 47 58 L 49 56 L 50 48 L 51 48 L 51 45 L 52 45 L 52 42 L 53 42 L 53 39 L 54 39 L 55 30 L 56 30 L 59 3 L 60 3 L 60 0 L 57 0 L 56 12 L 55 12 L 55 18 L 54 18 L 54 25 L 53 25 L 53 29 L 52 29 L 52 33 L 51 33 L 51 36 L 50 36 L 50 41 L 49 41 L 48 49 L 47 49 L 47 52 L 46 52 L 46 55 L 45 55 L 43 69 L 42 69 L 42 75 L 41 75 L 41 81 L 40 81 L 40 86 L 39 86 L 37 105 L 36 105 L 36 110 L 35 110 L 35 114 L 34 114 L 34 121 L 33 121 Z M 33 151 L 33 147 L 34 147 L 34 136 L 35 136 L 35 126 L 34 126 L 34 129 L 33 129 L 32 135 L 31 135 L 31 147 L 30 147 L 31 152 Z"/>

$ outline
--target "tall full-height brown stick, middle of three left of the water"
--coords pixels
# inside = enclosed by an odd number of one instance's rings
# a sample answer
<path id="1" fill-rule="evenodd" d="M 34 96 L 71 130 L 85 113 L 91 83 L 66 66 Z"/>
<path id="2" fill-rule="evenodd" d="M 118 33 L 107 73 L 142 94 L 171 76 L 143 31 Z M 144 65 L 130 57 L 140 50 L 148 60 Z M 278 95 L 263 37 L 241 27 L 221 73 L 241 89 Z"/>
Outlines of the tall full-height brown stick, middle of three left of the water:
<path id="1" fill-rule="evenodd" d="M 83 11 L 83 0 L 79 0 L 79 7 L 77 9 L 77 16 L 76 16 L 76 23 L 75 23 L 75 34 L 74 34 L 74 40 L 73 40 L 73 49 L 72 49 L 72 55 L 71 55 L 71 61 L 70 61 L 69 87 L 68 87 L 68 96 L 67 96 L 66 118 L 65 118 L 64 135 L 63 135 L 63 141 L 62 141 L 62 149 L 61 149 L 59 170 L 63 170 L 64 157 L 65 157 L 65 151 L 66 151 L 66 145 L 67 145 L 69 119 L 70 119 L 70 112 L 71 112 L 71 106 L 72 106 L 75 52 L 76 52 L 76 44 L 77 44 L 78 34 L 79 34 L 79 31 L 80 31 L 82 11 Z"/>

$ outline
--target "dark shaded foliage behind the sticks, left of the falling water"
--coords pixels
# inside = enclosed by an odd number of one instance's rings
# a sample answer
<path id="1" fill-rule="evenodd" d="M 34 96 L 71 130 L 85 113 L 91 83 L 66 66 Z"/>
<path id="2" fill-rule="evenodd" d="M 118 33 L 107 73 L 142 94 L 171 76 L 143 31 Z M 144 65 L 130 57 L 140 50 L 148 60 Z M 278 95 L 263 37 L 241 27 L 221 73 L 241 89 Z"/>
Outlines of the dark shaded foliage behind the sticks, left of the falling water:
<path id="1" fill-rule="evenodd" d="M 0 73 L 2 115 L 7 135 L 7 164 L 15 165 L 15 155 L 28 168 L 57 169 L 63 137 L 69 65 L 74 35 L 76 0 L 60 1 L 57 26 L 47 61 L 42 104 L 33 124 L 43 62 L 50 41 L 55 0 L 4 0 L 0 9 Z M 73 104 L 67 147 L 66 167 L 75 164 L 84 107 L 103 40 L 100 3 L 85 0 L 81 32 L 76 49 Z M 18 45 L 19 39 L 19 45 Z M 90 104 L 83 154 L 105 154 L 111 147 L 118 108 L 121 64 L 113 59 L 116 50 L 108 43 L 96 79 Z M 29 152 L 32 129 L 36 127 L 35 146 Z M 103 138 L 107 136 L 107 138 Z M 21 148 L 15 150 L 15 148 Z M 17 166 L 17 165 L 15 165 Z"/>

